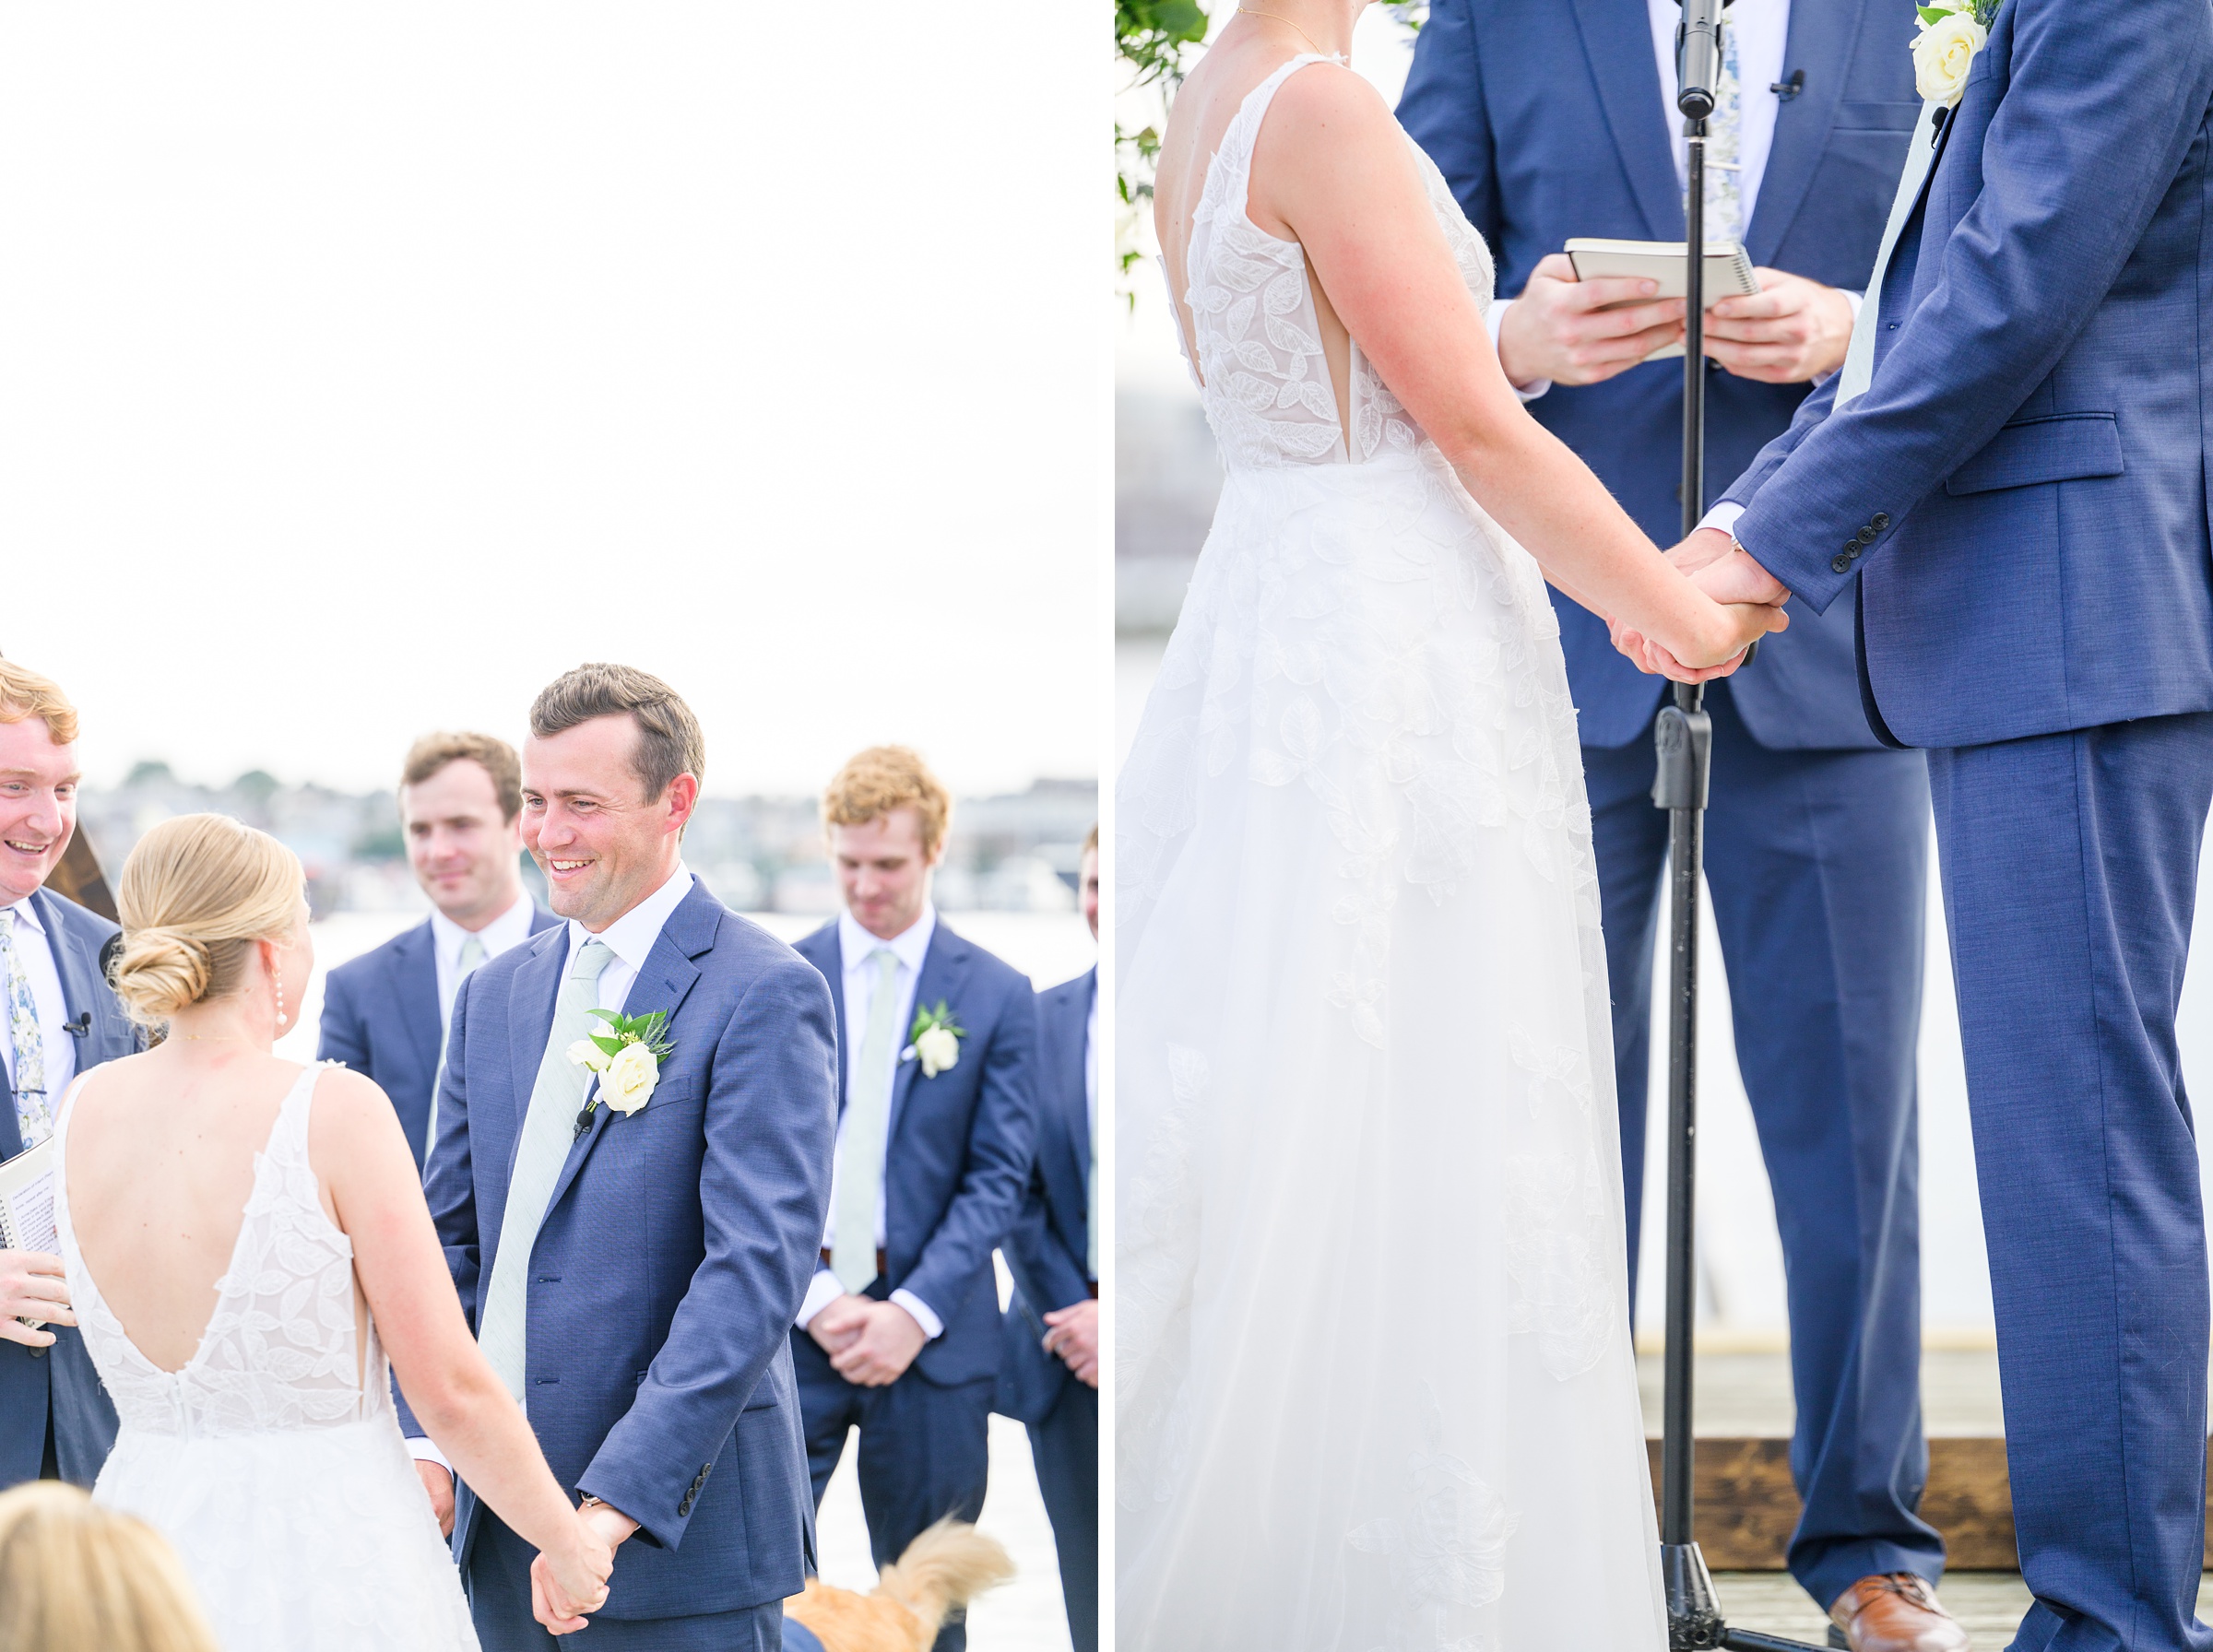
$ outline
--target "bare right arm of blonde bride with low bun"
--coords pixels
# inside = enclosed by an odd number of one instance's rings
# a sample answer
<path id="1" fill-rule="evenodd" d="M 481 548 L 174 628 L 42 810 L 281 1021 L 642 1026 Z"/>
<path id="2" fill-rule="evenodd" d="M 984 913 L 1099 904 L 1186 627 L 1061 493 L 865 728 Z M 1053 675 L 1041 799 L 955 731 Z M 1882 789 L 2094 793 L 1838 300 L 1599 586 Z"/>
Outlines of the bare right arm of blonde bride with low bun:
<path id="1" fill-rule="evenodd" d="M 571 1599 L 593 1610 L 613 1555 L 578 1522 L 522 1407 L 469 1336 L 392 1101 L 359 1073 L 323 1073 L 308 1148 L 354 1241 L 361 1294 L 416 1420 L 476 1495 L 553 1564 Z"/>

